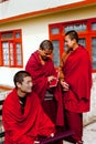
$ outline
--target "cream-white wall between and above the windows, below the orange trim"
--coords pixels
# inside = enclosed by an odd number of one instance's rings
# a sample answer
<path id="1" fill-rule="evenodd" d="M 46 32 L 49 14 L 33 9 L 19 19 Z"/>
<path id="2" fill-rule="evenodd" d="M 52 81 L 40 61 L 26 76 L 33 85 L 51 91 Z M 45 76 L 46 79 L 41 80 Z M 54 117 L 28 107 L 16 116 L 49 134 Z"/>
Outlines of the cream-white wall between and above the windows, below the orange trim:
<path id="1" fill-rule="evenodd" d="M 82 12 L 79 12 L 82 11 Z M 22 48 L 23 48 L 23 68 L 33 51 L 35 51 L 41 41 L 49 39 L 49 24 L 77 19 L 95 18 L 96 8 L 68 10 L 54 16 L 31 18 L 20 22 L 4 23 L 0 25 L 0 31 L 22 29 Z M 0 84 L 12 85 L 12 76 L 20 69 L 0 68 Z M 3 81 L 4 78 L 4 81 Z"/>

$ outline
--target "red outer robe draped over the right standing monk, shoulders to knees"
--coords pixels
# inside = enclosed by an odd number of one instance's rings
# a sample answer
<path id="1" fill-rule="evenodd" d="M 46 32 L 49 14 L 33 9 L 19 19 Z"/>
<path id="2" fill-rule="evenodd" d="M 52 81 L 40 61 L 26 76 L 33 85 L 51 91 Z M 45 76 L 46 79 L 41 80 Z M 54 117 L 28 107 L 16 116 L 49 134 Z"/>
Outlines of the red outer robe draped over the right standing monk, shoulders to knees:
<path id="1" fill-rule="evenodd" d="M 83 47 L 73 51 L 63 63 L 64 81 L 70 91 L 64 93 L 65 109 L 83 113 L 90 107 L 92 66 L 88 52 Z"/>

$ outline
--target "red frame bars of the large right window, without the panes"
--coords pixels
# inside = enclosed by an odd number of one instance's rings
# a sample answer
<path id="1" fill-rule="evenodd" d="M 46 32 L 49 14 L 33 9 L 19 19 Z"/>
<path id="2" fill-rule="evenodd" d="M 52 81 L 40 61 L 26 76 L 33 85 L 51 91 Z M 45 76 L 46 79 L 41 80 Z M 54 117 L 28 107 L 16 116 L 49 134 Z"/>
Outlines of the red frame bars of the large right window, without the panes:
<path id="1" fill-rule="evenodd" d="M 78 38 L 85 38 L 86 39 L 86 49 L 89 53 L 90 60 L 93 61 L 93 55 L 92 55 L 92 38 L 96 38 L 96 30 L 92 30 L 92 23 L 96 23 L 96 18 L 90 18 L 90 19 L 83 19 L 83 20 L 75 20 L 75 21 L 67 21 L 67 22 L 61 22 L 61 23 L 53 23 L 49 24 L 49 38 L 51 41 L 53 40 L 60 40 L 60 60 L 62 58 L 62 53 L 64 52 L 64 27 L 71 25 L 71 24 L 76 24 L 76 23 L 86 23 L 86 30 L 84 31 L 77 31 Z M 54 28 L 60 29 L 60 33 L 57 34 L 52 34 L 51 30 Z M 93 73 L 96 72 L 96 70 L 93 70 Z"/>

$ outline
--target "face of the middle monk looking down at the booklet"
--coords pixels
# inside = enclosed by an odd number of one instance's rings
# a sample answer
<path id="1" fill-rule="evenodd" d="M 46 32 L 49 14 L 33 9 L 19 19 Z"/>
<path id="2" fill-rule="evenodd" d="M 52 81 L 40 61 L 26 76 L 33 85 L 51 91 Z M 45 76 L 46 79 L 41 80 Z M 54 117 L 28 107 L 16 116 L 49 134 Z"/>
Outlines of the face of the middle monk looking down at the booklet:
<path id="1" fill-rule="evenodd" d="M 40 56 L 41 56 L 41 59 L 44 60 L 44 61 L 46 61 L 46 60 L 51 56 L 52 52 L 53 52 L 53 51 L 52 51 L 52 50 L 49 50 L 49 49 L 46 49 L 46 50 L 40 49 L 40 50 L 39 50 Z"/>

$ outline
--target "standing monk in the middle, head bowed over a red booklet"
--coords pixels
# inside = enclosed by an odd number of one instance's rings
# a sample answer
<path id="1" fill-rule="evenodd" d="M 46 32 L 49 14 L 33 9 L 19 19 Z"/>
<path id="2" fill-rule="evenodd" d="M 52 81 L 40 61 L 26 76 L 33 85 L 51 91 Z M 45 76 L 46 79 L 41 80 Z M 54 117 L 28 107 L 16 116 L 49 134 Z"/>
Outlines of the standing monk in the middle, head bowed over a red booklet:
<path id="1" fill-rule="evenodd" d="M 61 86 L 51 88 L 50 84 L 55 80 L 56 71 L 52 59 L 53 44 L 49 40 L 41 42 L 39 50 L 31 54 L 25 70 L 31 73 L 33 79 L 33 90 L 38 93 L 44 112 L 57 126 L 63 126 L 63 104 Z"/>

